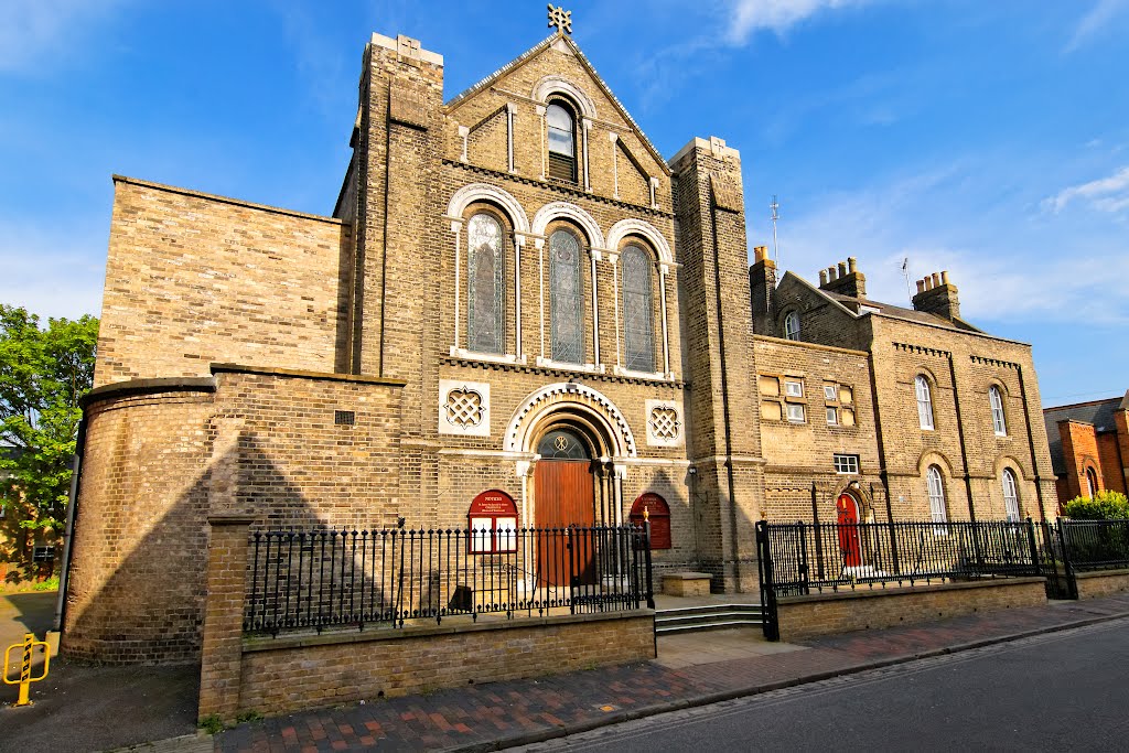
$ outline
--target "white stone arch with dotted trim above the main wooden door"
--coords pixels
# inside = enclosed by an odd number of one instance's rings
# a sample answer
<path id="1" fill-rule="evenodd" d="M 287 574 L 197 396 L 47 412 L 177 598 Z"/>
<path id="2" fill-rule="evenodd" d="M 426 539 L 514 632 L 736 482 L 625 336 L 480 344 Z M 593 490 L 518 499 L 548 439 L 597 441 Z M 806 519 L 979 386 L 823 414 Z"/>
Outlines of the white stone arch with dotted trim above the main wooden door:
<path id="1" fill-rule="evenodd" d="M 634 435 L 615 403 L 597 389 L 574 382 L 558 382 L 542 387 L 514 412 L 506 427 L 505 449 L 515 453 L 536 452 L 534 430 L 541 419 L 564 408 L 579 409 L 598 419 L 614 443 L 615 457 L 637 457 Z"/>

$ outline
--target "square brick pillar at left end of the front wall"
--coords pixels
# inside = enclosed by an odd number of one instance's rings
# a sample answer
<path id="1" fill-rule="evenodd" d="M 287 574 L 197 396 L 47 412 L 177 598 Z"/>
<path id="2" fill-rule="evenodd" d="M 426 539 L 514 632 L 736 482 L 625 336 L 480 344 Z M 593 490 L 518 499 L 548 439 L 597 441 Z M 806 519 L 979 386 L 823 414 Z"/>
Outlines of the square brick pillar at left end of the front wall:
<path id="1" fill-rule="evenodd" d="M 204 597 L 204 639 L 200 658 L 199 718 L 219 715 L 235 719 L 239 708 L 243 665 L 243 599 L 246 594 L 246 515 L 209 516 L 208 594 Z"/>

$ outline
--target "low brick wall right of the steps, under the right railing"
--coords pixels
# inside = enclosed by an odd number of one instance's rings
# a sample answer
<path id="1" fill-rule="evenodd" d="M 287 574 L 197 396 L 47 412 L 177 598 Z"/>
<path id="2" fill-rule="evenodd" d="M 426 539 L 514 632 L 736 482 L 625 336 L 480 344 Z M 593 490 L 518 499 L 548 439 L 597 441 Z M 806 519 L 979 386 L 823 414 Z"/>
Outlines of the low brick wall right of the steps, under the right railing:
<path id="1" fill-rule="evenodd" d="M 851 630 L 879 630 L 973 612 L 1047 603 L 1042 578 L 955 583 L 916 588 L 789 596 L 777 603 L 780 640 L 796 641 Z"/>

